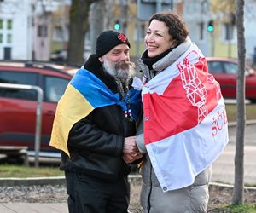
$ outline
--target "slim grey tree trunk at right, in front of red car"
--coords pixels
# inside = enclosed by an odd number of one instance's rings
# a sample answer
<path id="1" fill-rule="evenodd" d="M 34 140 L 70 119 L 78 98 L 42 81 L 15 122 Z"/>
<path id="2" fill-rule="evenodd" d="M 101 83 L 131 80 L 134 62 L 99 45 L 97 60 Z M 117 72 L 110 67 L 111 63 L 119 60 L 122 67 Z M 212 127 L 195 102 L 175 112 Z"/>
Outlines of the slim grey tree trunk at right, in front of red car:
<path id="1" fill-rule="evenodd" d="M 236 86 L 236 154 L 235 185 L 232 204 L 243 204 L 244 191 L 244 132 L 245 113 L 245 37 L 244 37 L 244 0 L 236 0 L 236 28 L 238 51 L 238 77 Z"/>

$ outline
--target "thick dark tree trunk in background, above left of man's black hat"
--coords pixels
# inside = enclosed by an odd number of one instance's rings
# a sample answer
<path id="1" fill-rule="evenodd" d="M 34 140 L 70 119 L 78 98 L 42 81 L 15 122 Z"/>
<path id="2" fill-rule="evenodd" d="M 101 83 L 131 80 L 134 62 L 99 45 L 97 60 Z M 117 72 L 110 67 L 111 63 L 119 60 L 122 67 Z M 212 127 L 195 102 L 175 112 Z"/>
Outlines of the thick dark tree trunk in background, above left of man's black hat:
<path id="1" fill-rule="evenodd" d="M 90 4 L 97 0 L 73 0 L 69 13 L 69 41 L 67 64 L 80 66 L 84 63 L 84 37 L 89 29 L 88 14 Z"/>

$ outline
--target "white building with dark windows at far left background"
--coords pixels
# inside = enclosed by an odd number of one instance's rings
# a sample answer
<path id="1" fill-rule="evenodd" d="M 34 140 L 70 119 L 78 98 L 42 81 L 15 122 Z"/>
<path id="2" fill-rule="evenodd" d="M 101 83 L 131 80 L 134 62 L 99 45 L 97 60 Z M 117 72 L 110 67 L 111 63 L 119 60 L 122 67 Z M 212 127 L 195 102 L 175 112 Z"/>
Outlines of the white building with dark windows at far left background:
<path id="1" fill-rule="evenodd" d="M 29 0 L 0 2 L 0 60 L 32 59 L 31 16 Z"/>

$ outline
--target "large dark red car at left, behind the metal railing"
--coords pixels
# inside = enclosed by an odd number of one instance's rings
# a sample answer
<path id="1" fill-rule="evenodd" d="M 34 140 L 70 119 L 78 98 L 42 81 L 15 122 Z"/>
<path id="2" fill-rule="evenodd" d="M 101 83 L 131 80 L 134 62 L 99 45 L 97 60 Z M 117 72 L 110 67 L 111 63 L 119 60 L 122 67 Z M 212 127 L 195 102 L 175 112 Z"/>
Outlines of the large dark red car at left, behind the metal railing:
<path id="1" fill-rule="evenodd" d="M 71 78 L 51 66 L 0 62 L 0 83 L 36 85 L 44 91 L 40 156 L 57 152 L 49 147 L 49 139 L 57 101 Z M 37 105 L 36 90 L 0 88 L 0 146 L 26 146 L 29 155 L 34 154 Z"/>

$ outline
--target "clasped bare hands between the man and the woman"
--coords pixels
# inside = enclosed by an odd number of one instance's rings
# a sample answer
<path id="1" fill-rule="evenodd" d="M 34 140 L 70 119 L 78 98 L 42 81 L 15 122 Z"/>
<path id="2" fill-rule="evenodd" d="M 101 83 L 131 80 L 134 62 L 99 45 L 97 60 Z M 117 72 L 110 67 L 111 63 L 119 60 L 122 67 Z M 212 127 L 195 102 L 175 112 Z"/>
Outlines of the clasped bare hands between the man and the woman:
<path id="1" fill-rule="evenodd" d="M 136 144 L 136 136 L 125 137 L 123 148 L 123 159 L 126 164 L 142 158 L 143 155 L 139 152 Z"/>

